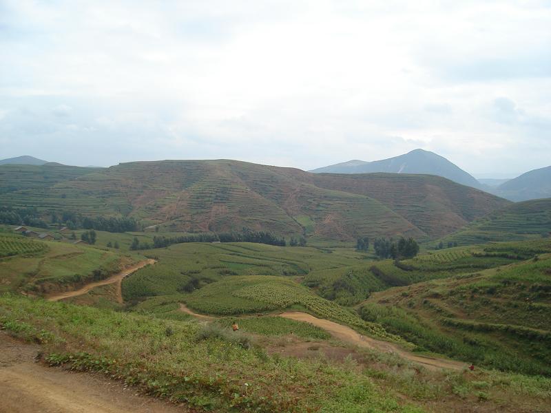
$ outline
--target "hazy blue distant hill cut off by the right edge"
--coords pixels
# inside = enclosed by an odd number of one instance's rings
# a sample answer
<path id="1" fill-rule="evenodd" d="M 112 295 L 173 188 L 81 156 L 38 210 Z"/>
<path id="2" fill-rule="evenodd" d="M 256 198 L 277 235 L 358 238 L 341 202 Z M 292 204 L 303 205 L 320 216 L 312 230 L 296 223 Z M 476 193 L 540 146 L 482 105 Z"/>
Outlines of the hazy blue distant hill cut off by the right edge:
<path id="1" fill-rule="evenodd" d="M 551 198 L 551 166 L 534 169 L 499 185 L 495 193 L 512 201 Z"/>

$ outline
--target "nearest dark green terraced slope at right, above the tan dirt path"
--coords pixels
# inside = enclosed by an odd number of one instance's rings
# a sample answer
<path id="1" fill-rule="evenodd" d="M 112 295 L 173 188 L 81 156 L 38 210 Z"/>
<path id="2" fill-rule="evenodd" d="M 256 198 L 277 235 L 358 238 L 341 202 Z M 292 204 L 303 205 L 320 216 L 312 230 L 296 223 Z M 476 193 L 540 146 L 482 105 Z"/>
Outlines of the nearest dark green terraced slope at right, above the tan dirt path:
<path id="1" fill-rule="evenodd" d="M 503 257 L 543 252 L 499 268 L 375 293 L 359 307 L 360 315 L 418 350 L 551 376 L 551 241 L 492 248 Z"/>

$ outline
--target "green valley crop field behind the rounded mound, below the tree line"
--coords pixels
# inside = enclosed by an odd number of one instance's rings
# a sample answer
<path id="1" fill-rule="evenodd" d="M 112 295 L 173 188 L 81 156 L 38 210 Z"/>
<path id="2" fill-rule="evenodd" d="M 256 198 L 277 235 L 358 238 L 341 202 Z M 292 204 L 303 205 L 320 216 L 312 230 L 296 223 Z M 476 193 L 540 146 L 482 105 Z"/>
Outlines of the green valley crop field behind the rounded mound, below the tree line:
<path id="1" fill-rule="evenodd" d="M 322 268 L 357 264 L 364 256 L 349 248 L 279 247 L 264 244 L 189 243 L 142 251 L 158 259 L 123 281 L 125 300 L 196 290 L 228 275 L 301 277 Z"/>

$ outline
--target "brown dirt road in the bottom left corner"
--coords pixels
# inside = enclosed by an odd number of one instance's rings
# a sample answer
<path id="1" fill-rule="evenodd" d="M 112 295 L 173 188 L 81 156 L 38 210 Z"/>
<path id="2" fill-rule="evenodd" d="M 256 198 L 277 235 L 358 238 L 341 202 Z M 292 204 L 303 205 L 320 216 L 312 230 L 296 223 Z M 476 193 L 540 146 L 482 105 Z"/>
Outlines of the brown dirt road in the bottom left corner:
<path id="1" fill-rule="evenodd" d="M 189 412 L 98 374 L 42 366 L 34 362 L 38 351 L 0 331 L 0 413 Z"/>

